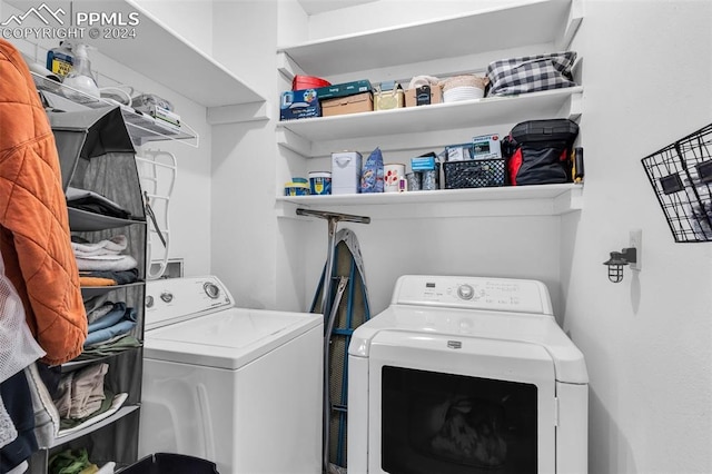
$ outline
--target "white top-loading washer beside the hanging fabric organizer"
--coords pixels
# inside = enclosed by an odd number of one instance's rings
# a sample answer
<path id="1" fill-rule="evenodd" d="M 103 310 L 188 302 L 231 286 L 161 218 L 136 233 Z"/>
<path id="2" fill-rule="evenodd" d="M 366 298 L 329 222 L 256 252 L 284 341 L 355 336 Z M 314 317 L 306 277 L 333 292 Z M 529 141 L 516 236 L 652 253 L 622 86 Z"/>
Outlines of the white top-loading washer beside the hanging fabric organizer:
<path id="1" fill-rule="evenodd" d="M 322 315 L 236 307 L 215 276 L 146 284 L 139 456 L 320 472 Z"/>

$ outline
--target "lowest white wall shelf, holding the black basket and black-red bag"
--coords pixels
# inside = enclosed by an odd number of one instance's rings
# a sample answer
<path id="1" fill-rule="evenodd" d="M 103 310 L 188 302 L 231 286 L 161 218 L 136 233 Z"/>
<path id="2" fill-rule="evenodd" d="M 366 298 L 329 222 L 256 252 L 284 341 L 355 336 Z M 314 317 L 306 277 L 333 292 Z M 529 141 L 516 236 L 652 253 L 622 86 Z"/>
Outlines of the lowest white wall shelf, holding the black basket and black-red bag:
<path id="1" fill-rule="evenodd" d="M 582 200 L 583 185 L 564 184 L 364 195 L 278 196 L 277 209 L 280 217 L 295 218 L 297 207 L 365 214 L 382 219 L 560 216 L 581 210 Z M 357 213 L 354 211 L 356 207 Z"/>

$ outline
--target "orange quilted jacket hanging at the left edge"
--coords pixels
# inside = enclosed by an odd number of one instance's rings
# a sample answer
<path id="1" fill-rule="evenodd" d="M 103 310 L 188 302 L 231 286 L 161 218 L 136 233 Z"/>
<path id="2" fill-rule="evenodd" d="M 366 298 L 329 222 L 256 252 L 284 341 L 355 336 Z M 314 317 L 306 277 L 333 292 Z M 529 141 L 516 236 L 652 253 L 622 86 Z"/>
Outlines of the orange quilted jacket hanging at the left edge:
<path id="1" fill-rule="evenodd" d="M 0 39 L 0 253 L 27 323 L 62 364 L 81 353 L 87 315 L 49 120 L 18 50 Z"/>

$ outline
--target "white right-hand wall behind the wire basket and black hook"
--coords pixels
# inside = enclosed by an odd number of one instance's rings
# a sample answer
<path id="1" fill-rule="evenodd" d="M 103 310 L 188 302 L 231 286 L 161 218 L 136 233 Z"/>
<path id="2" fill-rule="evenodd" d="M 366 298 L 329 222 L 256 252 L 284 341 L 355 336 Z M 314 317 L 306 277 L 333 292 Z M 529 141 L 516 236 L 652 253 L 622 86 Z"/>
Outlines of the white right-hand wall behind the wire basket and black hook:
<path id="1" fill-rule="evenodd" d="M 565 224 L 565 328 L 591 377 L 592 473 L 712 472 L 712 245 L 674 244 L 641 158 L 710 122 L 712 4 L 585 2 L 584 210 Z M 601 265 L 643 229 L 642 271 Z"/>

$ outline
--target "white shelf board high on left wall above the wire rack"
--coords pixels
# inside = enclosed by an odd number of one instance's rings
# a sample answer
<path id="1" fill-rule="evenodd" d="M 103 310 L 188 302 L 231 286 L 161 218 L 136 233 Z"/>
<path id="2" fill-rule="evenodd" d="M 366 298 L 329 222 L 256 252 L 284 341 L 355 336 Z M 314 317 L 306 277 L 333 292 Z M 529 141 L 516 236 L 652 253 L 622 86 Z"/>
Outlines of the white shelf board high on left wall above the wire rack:
<path id="1" fill-rule="evenodd" d="M 9 3 L 27 8 L 27 2 L 9 0 Z M 72 10 L 101 10 L 120 13 L 125 19 L 129 18 L 129 13 L 138 12 L 139 23 L 134 27 L 136 38 L 91 39 L 85 34 L 82 41 L 97 47 L 100 53 L 205 107 L 266 100 L 244 80 L 187 42 L 132 0 L 107 0 L 100 6 L 96 0 L 75 0 Z"/>

